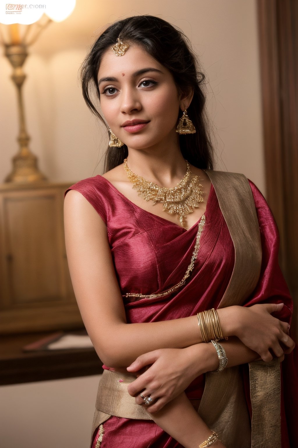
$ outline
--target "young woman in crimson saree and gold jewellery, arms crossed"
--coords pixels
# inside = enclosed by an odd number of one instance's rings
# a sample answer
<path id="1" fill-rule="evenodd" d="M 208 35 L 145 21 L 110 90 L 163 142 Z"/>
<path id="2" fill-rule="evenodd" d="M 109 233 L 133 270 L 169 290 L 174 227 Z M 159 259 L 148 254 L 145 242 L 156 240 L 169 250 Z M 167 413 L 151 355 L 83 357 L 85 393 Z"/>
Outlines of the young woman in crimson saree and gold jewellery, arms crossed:
<path id="1" fill-rule="evenodd" d="M 277 229 L 252 182 L 212 171 L 203 82 L 185 36 L 152 16 L 109 26 L 84 61 L 110 135 L 105 174 L 65 197 L 71 279 L 105 363 L 92 448 L 290 447 Z"/>

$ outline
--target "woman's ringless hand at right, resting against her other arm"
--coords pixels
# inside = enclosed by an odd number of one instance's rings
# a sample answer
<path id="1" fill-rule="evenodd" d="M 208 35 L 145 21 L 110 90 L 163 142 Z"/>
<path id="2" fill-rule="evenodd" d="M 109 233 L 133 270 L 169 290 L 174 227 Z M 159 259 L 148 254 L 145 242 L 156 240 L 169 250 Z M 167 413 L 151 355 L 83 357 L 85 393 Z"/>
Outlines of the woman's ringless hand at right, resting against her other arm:
<path id="1" fill-rule="evenodd" d="M 272 361 L 274 355 L 281 358 L 284 353 L 291 353 L 295 346 L 289 336 L 289 324 L 271 316 L 283 306 L 283 303 L 236 306 L 238 327 L 235 336 L 265 362 Z"/>

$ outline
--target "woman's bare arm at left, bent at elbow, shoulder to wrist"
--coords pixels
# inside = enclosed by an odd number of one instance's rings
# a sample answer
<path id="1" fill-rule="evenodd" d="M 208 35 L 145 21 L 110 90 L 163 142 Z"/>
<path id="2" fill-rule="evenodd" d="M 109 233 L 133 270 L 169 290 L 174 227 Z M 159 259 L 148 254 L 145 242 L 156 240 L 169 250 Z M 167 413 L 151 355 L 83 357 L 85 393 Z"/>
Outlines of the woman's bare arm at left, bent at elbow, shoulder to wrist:
<path id="1" fill-rule="evenodd" d="M 66 195 L 64 222 L 67 260 L 80 313 L 106 365 L 128 366 L 142 353 L 184 348 L 202 341 L 197 316 L 127 324 L 105 223 L 75 190 Z M 239 307 L 218 310 L 225 336 L 237 334 L 235 308 Z"/>

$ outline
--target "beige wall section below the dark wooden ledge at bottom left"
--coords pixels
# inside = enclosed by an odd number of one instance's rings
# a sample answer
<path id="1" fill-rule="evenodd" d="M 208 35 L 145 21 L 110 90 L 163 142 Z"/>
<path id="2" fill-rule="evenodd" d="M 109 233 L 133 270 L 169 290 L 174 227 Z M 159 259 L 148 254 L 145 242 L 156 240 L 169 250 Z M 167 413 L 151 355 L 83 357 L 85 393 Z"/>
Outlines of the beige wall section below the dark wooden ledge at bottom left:
<path id="1" fill-rule="evenodd" d="M 0 387 L 1 448 L 88 448 L 99 379 Z"/>

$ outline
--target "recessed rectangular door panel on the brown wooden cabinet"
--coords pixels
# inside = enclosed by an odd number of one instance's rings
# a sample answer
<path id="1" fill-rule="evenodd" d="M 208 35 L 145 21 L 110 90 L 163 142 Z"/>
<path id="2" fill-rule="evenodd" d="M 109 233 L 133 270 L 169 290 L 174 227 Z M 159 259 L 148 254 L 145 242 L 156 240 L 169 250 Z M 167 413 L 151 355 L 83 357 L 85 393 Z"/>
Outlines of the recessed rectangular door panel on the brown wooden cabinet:
<path id="1" fill-rule="evenodd" d="M 10 304 L 59 300 L 61 247 L 54 194 L 5 198 Z"/>

